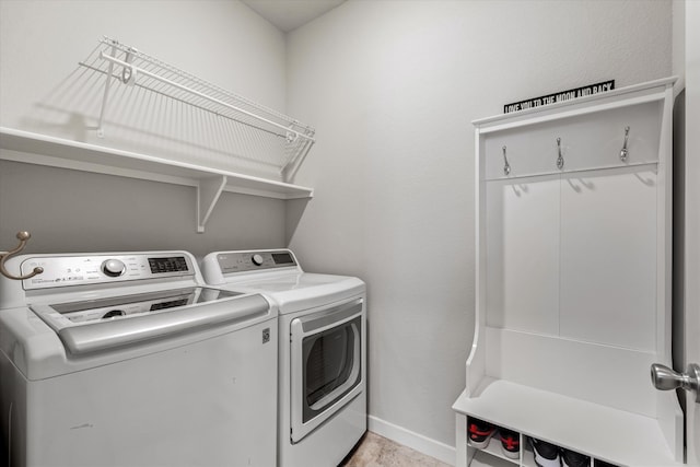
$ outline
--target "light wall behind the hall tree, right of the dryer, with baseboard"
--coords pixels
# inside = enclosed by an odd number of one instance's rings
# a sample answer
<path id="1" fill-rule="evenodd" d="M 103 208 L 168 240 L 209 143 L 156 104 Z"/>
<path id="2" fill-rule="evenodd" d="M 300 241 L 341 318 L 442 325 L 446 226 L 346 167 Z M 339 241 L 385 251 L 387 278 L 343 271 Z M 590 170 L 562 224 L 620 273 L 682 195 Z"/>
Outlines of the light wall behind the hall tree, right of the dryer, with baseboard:
<path id="1" fill-rule="evenodd" d="M 288 112 L 318 140 L 291 247 L 308 270 L 368 282 L 371 427 L 454 462 L 474 328 L 470 120 L 669 75 L 672 3 L 349 0 L 288 40 Z"/>

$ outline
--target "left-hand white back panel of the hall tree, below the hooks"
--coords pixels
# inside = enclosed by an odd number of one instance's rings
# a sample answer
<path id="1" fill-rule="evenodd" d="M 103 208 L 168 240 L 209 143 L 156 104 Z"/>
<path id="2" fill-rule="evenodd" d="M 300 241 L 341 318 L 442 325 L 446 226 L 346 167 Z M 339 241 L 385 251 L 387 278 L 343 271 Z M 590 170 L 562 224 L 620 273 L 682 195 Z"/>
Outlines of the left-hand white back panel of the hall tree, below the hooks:
<path id="1" fill-rule="evenodd" d="M 559 331 L 559 177 L 487 183 L 487 325 Z"/>

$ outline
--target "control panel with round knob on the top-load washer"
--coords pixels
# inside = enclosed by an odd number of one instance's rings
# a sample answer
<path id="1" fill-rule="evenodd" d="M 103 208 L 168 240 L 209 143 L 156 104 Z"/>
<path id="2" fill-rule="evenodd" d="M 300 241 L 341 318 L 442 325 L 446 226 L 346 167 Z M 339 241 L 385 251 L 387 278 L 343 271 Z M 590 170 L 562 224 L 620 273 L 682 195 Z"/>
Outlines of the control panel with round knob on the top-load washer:
<path id="1" fill-rule="evenodd" d="M 165 255 L 37 256 L 22 261 L 22 273 L 40 266 L 44 272 L 22 281 L 25 290 L 162 277 L 194 276 L 188 256 Z"/>

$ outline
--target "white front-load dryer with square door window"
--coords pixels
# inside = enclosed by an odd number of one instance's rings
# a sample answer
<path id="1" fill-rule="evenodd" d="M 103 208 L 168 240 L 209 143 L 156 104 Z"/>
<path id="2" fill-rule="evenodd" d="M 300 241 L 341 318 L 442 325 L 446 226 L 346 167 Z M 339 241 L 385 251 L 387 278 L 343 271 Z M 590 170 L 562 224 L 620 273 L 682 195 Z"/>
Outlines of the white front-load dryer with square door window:
<path id="1" fill-rule="evenodd" d="M 202 273 L 279 307 L 278 465 L 338 465 L 366 431 L 364 282 L 304 272 L 289 249 L 211 253 Z"/>

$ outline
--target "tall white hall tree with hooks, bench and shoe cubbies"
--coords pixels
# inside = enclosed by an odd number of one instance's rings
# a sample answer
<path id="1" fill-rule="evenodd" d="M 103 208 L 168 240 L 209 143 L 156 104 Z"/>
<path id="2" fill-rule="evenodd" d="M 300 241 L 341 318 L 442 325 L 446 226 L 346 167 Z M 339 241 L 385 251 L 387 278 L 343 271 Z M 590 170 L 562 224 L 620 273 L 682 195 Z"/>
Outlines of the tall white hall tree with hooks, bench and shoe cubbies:
<path id="1" fill-rule="evenodd" d="M 650 380 L 652 363 L 670 366 L 674 81 L 475 121 L 476 324 L 453 406 L 457 466 L 503 457 L 467 443 L 470 418 L 522 433 L 511 465 L 536 465 L 528 439 L 592 465 L 682 463 L 676 395 Z"/>

